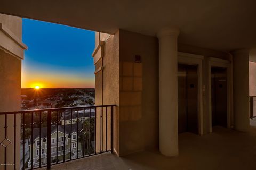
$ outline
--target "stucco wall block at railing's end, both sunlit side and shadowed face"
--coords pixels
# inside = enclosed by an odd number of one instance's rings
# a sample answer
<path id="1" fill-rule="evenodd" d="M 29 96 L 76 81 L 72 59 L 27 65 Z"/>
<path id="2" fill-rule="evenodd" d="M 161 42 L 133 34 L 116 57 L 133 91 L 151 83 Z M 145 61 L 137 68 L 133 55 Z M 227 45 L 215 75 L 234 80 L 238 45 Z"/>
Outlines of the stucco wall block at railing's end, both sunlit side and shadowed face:
<path id="1" fill-rule="evenodd" d="M 97 40 L 105 41 L 102 58 L 95 63 L 97 54 L 94 56 L 95 104 L 117 105 L 114 114 L 115 151 L 122 156 L 158 147 L 157 38 L 119 30 L 109 37 L 101 37 L 98 33 L 95 39 L 96 45 L 100 44 Z M 135 55 L 141 56 L 141 63 L 135 63 Z M 97 71 L 101 66 L 103 69 Z M 97 122 L 100 122 L 99 118 Z M 97 123 L 97 139 L 100 138 L 99 131 Z M 100 142 L 97 143 L 99 151 Z M 110 149 L 110 145 L 107 148 Z M 105 146 L 103 149 L 106 149 Z"/>

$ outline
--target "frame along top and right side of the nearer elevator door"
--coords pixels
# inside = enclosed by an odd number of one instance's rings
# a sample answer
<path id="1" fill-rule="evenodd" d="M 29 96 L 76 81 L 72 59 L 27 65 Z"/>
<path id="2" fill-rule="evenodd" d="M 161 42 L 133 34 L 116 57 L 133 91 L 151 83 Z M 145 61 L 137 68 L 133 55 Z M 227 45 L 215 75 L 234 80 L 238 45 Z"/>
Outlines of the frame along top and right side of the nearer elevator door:
<path id="1" fill-rule="evenodd" d="M 204 56 L 178 52 L 178 64 L 197 66 L 198 134 L 203 135 L 203 62 Z"/>

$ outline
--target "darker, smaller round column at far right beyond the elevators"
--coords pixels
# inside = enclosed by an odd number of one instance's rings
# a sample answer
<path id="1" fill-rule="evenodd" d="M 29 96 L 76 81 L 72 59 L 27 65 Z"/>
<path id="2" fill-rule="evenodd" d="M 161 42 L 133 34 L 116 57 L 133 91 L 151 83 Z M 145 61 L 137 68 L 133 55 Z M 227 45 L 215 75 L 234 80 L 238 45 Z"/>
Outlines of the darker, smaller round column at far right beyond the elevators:
<path id="1" fill-rule="evenodd" d="M 234 128 L 249 129 L 249 50 L 236 50 L 233 54 Z"/>

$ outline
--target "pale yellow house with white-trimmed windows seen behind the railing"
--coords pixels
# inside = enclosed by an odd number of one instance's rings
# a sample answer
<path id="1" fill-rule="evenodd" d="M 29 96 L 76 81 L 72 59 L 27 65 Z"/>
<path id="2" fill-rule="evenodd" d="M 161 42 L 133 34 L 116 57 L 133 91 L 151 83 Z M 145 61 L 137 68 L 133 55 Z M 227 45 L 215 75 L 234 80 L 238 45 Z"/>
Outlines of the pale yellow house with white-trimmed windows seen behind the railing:
<path id="1" fill-rule="evenodd" d="M 72 128 L 72 129 L 71 129 Z M 65 131 L 63 125 L 52 126 L 51 128 L 51 162 L 57 162 L 57 151 L 58 151 L 58 161 L 63 161 L 63 157 L 65 159 L 75 159 L 77 156 L 77 147 L 78 147 L 78 156 L 82 155 L 82 144 L 78 142 L 78 136 L 80 130 L 82 129 L 82 124 L 66 125 Z M 47 127 L 41 128 L 41 149 L 40 149 L 40 137 L 39 137 L 39 128 L 35 128 L 33 133 L 33 139 L 30 140 L 29 148 L 30 148 L 30 160 L 28 162 L 28 167 L 31 167 L 31 154 L 33 153 L 33 164 L 35 166 L 39 166 L 39 156 L 41 150 L 41 164 L 45 165 L 47 162 Z M 78 136 L 77 136 L 78 132 Z M 57 139 L 58 133 L 58 139 Z M 58 148 L 57 148 L 58 142 Z M 70 149 L 71 147 L 71 149 Z M 64 150 L 65 149 L 65 150 Z M 33 151 L 31 151 L 33 150 Z M 70 156 L 71 153 L 71 156 Z"/>

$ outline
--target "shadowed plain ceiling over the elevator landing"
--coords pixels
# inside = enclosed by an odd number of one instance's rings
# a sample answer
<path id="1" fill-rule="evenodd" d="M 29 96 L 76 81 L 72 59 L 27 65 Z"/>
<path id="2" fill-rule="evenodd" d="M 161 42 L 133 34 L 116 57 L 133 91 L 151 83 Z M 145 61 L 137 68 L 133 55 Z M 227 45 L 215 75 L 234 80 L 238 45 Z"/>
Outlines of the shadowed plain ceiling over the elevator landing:
<path id="1" fill-rule="evenodd" d="M 112 34 L 178 27 L 180 43 L 223 52 L 256 46 L 255 0 L 1 0 L 0 13 Z"/>

